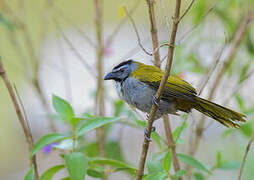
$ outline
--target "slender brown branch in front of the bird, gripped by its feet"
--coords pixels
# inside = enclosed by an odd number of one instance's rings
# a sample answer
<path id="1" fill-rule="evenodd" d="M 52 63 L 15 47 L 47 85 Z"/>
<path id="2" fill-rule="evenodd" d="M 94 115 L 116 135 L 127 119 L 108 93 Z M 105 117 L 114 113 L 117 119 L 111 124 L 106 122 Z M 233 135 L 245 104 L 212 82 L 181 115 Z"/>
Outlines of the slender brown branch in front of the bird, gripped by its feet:
<path id="1" fill-rule="evenodd" d="M 168 77 L 170 75 L 170 70 L 173 62 L 173 56 L 174 56 L 174 45 L 175 45 L 175 39 L 176 39 L 176 32 L 178 28 L 179 21 L 176 21 L 176 19 L 179 18 L 180 14 L 180 7 L 181 7 L 181 0 L 176 1 L 176 7 L 175 7 L 175 15 L 174 15 L 174 21 L 173 21 L 173 26 L 172 26 L 172 31 L 170 35 L 170 45 L 168 49 L 168 58 L 167 58 L 167 65 L 165 68 L 165 73 L 162 78 L 162 81 L 160 82 L 159 89 L 156 92 L 156 101 L 160 101 L 160 97 L 162 95 L 163 89 L 167 83 Z M 148 118 L 148 124 L 147 124 L 147 137 L 150 138 L 151 136 L 151 130 L 154 122 L 154 117 L 156 114 L 158 107 L 153 104 L 151 111 L 149 113 L 149 118 Z M 137 180 L 141 180 L 144 174 L 144 167 L 145 167 L 145 161 L 146 161 L 146 156 L 149 148 L 149 141 L 145 138 L 143 145 L 142 145 L 142 152 L 139 160 L 139 167 L 137 171 Z"/>

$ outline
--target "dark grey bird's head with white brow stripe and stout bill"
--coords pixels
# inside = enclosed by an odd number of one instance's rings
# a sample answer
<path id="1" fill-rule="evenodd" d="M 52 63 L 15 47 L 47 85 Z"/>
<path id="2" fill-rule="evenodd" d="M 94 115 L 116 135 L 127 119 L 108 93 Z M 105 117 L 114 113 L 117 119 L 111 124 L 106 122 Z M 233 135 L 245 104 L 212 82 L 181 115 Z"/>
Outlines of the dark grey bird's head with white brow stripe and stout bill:
<path id="1" fill-rule="evenodd" d="M 117 82 L 122 82 L 130 76 L 130 74 L 135 71 L 138 67 L 138 63 L 133 60 L 128 60 L 121 62 L 113 68 L 113 70 L 108 73 L 104 80 L 115 80 Z"/>

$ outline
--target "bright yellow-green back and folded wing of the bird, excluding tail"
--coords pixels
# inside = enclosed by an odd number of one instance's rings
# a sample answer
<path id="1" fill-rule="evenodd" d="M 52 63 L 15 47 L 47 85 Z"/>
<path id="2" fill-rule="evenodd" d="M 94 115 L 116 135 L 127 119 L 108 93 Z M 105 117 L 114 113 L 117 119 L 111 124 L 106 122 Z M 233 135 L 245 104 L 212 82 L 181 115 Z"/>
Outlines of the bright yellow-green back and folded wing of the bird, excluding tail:
<path id="1" fill-rule="evenodd" d="M 155 66 L 138 64 L 138 68 L 131 73 L 130 77 L 135 77 L 157 90 L 164 72 Z M 177 97 L 191 100 L 196 94 L 196 90 L 188 82 L 177 76 L 170 76 L 163 92 L 163 97 Z"/>

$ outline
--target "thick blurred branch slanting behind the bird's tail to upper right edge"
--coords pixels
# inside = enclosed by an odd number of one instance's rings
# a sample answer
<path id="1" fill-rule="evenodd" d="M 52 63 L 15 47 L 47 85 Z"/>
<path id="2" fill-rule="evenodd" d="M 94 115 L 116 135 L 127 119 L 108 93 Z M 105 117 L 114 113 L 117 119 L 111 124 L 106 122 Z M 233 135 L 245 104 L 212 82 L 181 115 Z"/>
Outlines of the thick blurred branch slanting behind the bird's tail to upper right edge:
<path id="1" fill-rule="evenodd" d="M 237 52 L 238 47 L 240 46 L 242 39 L 244 37 L 244 34 L 247 30 L 247 27 L 249 25 L 249 23 L 251 22 L 251 20 L 254 18 L 254 9 L 249 11 L 247 17 L 243 20 L 243 22 L 239 25 L 236 34 L 232 40 L 232 48 L 230 50 L 230 52 L 228 53 L 226 60 L 223 63 L 222 68 L 220 69 L 220 71 L 218 72 L 215 81 L 212 85 L 212 89 L 210 91 L 210 94 L 208 96 L 208 100 L 211 100 L 214 96 L 214 93 L 217 89 L 217 87 L 219 86 L 219 83 L 224 75 L 224 73 L 226 72 L 226 70 L 228 69 L 228 67 L 230 66 L 231 62 L 233 61 L 233 58 Z M 199 122 L 198 122 L 198 126 L 195 130 L 195 137 L 194 137 L 194 145 L 192 146 L 192 148 L 190 149 L 190 155 L 193 156 L 199 146 L 199 142 L 200 139 L 202 137 L 203 134 L 203 130 L 204 130 L 204 125 L 205 125 L 205 116 L 202 115 Z"/>

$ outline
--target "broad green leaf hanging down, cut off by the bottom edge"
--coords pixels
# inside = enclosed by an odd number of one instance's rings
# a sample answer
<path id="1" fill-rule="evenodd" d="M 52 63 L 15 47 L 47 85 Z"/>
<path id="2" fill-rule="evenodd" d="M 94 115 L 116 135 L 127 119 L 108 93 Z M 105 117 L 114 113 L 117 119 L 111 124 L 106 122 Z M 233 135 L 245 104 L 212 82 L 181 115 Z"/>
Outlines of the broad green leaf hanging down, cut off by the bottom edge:
<path id="1" fill-rule="evenodd" d="M 65 163 L 72 180 L 84 180 L 88 159 L 81 152 L 67 154 Z"/>

